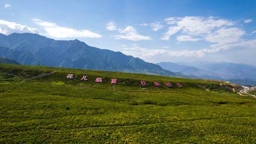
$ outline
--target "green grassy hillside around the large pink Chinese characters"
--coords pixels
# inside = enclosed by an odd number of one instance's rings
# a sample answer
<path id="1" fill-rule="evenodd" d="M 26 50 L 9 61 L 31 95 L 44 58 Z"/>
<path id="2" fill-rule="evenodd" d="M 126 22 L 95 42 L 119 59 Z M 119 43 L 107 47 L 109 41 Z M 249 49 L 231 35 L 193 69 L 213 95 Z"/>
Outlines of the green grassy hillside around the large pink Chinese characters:
<path id="1" fill-rule="evenodd" d="M 255 143 L 256 101 L 231 90 L 217 81 L 0 64 L 0 144 Z"/>

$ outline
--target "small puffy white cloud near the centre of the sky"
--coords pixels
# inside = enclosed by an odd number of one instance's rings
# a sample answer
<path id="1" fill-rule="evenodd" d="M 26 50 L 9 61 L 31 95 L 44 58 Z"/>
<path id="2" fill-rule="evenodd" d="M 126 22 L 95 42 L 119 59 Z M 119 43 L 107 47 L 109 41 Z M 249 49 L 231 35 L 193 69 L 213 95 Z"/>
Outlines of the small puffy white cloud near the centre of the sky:
<path id="1" fill-rule="evenodd" d="M 120 35 L 114 36 L 116 39 L 127 39 L 127 40 L 152 40 L 150 36 L 143 36 L 138 34 L 134 27 L 127 26 L 124 29 L 118 29 Z"/>

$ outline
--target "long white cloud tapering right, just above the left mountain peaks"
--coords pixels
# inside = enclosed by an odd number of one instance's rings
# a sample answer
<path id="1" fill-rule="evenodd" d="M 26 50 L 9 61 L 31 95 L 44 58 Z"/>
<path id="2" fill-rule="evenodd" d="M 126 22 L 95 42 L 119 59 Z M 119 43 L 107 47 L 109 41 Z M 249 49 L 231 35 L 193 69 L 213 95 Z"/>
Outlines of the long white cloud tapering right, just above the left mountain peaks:
<path id="1" fill-rule="evenodd" d="M 53 22 L 42 21 L 40 19 L 32 19 L 34 23 L 44 27 L 46 35 L 54 38 L 67 38 L 67 37 L 90 37 L 100 38 L 101 35 L 93 33 L 89 30 L 76 30 L 73 28 L 60 27 Z"/>

